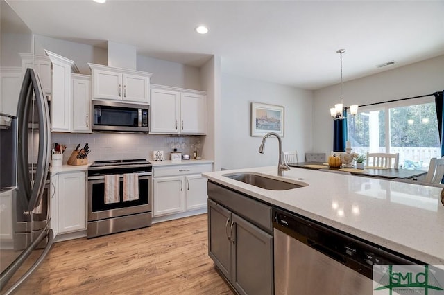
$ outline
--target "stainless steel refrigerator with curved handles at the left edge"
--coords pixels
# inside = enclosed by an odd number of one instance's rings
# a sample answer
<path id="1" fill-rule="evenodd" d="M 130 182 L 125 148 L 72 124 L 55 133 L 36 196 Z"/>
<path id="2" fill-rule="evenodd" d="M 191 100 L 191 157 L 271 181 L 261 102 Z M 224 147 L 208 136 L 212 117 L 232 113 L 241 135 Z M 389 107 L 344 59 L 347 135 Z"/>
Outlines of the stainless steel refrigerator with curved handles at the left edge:
<path id="1" fill-rule="evenodd" d="M 1 199 L 0 291 L 10 294 L 40 266 L 53 244 L 49 107 L 33 69 L 24 75 L 17 118 L 3 115 L 0 123 L 0 184 L 2 193 L 9 193 Z"/>

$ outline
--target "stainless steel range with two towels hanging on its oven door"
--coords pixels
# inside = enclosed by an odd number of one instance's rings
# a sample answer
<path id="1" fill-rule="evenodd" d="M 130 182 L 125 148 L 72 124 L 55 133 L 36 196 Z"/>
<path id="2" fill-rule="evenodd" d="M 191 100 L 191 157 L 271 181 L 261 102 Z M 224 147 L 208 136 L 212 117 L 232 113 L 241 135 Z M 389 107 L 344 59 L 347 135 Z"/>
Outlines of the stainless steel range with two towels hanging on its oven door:
<path id="1" fill-rule="evenodd" d="M 151 226 L 146 159 L 95 161 L 88 168 L 88 238 Z"/>

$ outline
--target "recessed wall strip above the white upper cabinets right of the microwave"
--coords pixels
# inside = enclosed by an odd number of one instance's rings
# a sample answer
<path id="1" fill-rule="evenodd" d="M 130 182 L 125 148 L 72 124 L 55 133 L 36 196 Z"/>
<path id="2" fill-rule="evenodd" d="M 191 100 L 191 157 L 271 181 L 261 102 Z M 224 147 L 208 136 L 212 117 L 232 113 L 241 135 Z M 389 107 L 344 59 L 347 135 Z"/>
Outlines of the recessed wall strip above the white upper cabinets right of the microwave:
<path id="1" fill-rule="evenodd" d="M 153 84 L 205 90 L 200 84 L 200 69 L 194 66 L 137 55 L 137 70 L 153 73 Z"/>

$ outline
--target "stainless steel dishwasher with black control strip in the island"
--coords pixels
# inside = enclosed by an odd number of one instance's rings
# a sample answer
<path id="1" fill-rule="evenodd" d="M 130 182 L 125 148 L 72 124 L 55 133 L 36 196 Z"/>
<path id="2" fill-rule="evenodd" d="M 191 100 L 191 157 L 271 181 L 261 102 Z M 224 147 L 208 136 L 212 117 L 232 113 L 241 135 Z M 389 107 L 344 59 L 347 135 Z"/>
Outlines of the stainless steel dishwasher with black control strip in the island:
<path id="1" fill-rule="evenodd" d="M 275 295 L 373 294 L 373 265 L 424 265 L 280 208 L 273 228 Z"/>

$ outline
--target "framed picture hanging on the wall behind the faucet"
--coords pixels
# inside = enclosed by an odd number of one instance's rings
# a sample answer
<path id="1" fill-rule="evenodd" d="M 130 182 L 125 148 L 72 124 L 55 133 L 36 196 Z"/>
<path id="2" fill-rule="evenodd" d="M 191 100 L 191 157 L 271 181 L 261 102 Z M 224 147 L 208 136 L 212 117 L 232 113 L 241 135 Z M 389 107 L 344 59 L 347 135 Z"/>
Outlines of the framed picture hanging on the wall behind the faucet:
<path id="1" fill-rule="evenodd" d="M 284 136 L 284 107 L 251 102 L 251 136 L 275 132 Z"/>

